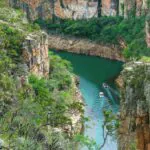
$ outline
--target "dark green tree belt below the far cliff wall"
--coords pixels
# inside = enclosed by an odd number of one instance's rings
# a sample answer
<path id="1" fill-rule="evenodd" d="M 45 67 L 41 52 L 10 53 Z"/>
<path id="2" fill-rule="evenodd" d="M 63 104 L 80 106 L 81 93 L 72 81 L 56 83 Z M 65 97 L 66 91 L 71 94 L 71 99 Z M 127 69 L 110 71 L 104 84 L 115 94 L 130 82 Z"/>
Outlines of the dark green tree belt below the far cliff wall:
<path id="1" fill-rule="evenodd" d="M 63 33 L 88 38 L 107 45 L 120 46 L 126 58 L 150 56 L 145 42 L 145 17 L 101 17 L 89 20 L 61 20 L 53 24 L 50 20 L 37 20 L 49 32 Z"/>

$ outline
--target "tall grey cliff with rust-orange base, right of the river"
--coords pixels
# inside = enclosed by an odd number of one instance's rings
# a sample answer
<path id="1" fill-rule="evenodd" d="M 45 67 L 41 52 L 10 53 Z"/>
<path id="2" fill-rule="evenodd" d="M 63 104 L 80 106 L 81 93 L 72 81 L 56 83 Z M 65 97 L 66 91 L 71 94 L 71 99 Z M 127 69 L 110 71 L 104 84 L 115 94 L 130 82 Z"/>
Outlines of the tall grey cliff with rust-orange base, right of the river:
<path id="1" fill-rule="evenodd" d="M 132 62 L 122 72 L 119 150 L 149 150 L 150 64 Z"/>

